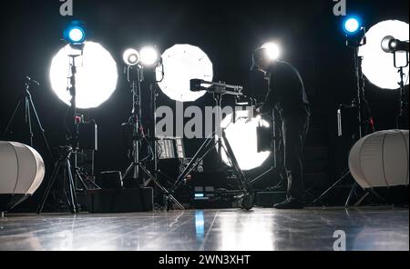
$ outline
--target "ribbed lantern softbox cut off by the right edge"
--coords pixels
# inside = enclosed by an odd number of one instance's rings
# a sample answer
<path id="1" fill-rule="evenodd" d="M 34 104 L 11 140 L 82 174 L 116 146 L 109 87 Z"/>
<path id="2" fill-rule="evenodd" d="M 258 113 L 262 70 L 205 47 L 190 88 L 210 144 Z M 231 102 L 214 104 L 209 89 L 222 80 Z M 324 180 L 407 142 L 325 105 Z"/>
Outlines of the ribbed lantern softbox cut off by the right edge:
<path id="1" fill-rule="evenodd" d="M 350 172 L 364 189 L 408 185 L 408 150 L 408 130 L 367 135 L 350 152 Z"/>

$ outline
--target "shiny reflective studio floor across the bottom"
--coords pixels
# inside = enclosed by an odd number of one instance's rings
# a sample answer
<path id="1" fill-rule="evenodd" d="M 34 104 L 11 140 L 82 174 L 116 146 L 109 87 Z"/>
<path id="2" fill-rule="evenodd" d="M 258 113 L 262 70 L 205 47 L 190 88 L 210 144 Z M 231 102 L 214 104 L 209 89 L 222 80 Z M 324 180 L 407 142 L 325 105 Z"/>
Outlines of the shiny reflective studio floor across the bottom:
<path id="1" fill-rule="evenodd" d="M 6 214 L 0 250 L 409 250 L 408 209 L 255 208 L 136 214 Z"/>

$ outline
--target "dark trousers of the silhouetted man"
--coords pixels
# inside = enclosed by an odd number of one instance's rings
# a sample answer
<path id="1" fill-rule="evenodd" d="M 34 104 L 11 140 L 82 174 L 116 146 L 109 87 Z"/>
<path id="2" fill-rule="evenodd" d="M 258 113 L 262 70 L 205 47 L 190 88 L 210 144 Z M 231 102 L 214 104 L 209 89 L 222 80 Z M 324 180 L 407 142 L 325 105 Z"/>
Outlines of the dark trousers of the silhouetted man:
<path id="1" fill-rule="evenodd" d="M 302 152 L 309 130 L 308 114 L 282 115 L 284 165 L 288 174 L 288 199 L 302 201 L 303 164 Z"/>

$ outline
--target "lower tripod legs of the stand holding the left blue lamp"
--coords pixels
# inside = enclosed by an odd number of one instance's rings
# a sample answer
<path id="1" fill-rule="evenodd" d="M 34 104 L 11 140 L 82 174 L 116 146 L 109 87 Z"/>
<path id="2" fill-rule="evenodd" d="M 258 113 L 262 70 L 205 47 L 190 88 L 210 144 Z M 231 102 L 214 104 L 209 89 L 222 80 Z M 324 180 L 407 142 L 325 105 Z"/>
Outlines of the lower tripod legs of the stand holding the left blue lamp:
<path id="1" fill-rule="evenodd" d="M 76 214 L 79 212 L 77 204 L 76 186 L 74 184 L 74 177 L 71 171 L 70 164 L 71 154 L 73 154 L 73 148 L 71 146 L 59 147 L 58 160 L 56 161 L 56 164 L 54 166 L 54 171 L 53 174 L 51 174 L 50 181 L 47 184 L 46 193 L 44 194 L 40 204 L 38 205 L 37 214 L 41 214 L 43 212 L 43 208 L 46 204 L 48 195 L 50 194 L 53 185 L 56 183 L 56 178 L 61 170 L 63 172 L 63 193 L 66 196 L 67 204 L 69 205 L 72 214 Z M 76 170 L 76 174 L 77 176 L 79 176 L 78 170 Z M 67 186 L 65 186 L 66 183 L 68 184 L 68 195 Z"/>

